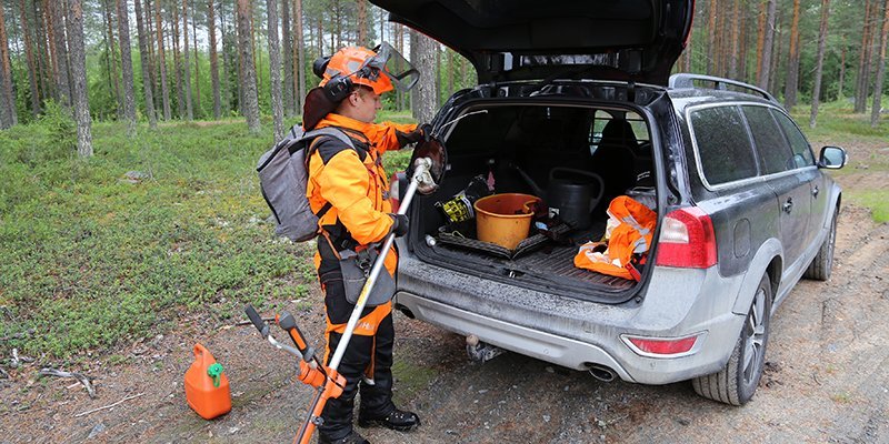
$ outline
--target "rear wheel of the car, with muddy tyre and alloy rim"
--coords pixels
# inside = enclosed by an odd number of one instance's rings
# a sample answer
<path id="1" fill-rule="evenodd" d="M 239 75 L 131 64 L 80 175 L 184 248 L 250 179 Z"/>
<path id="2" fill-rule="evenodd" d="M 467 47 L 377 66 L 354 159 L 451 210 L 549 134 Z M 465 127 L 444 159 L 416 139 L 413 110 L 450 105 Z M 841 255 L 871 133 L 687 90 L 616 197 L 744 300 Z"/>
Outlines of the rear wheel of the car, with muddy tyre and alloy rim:
<path id="1" fill-rule="evenodd" d="M 743 405 L 753 397 L 766 364 L 771 300 L 771 281 L 767 274 L 757 286 L 729 362 L 718 373 L 691 380 L 695 392 L 730 405 Z"/>

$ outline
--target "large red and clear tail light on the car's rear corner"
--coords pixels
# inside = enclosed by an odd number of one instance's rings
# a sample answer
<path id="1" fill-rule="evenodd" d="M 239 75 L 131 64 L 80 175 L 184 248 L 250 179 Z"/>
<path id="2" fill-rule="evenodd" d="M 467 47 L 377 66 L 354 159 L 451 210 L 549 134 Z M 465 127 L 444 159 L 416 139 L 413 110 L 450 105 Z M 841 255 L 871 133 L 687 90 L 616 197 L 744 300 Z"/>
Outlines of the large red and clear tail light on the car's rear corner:
<path id="1" fill-rule="evenodd" d="M 663 216 L 658 240 L 658 265 L 707 269 L 716 261 L 713 222 L 703 210 L 687 206 Z"/>

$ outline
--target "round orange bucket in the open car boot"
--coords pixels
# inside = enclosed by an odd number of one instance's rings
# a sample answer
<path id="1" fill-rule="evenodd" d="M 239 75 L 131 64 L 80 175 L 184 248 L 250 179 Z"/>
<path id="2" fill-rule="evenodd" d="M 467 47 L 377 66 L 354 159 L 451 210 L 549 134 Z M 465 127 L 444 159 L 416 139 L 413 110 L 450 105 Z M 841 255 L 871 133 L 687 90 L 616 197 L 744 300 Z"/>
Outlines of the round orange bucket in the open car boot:
<path id="1" fill-rule="evenodd" d="M 479 241 L 498 244 L 508 250 L 526 238 L 540 198 L 530 194 L 492 194 L 476 201 L 476 231 Z"/>

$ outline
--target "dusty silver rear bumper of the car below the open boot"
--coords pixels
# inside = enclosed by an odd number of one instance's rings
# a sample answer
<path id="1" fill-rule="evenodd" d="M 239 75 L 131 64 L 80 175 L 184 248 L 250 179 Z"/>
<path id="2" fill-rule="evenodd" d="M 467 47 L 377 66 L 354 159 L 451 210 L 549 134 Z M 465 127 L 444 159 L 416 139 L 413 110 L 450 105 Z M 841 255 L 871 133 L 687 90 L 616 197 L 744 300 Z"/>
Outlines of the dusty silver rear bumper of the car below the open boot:
<path id="1" fill-rule="evenodd" d="M 529 291 L 401 258 L 396 304 L 421 321 L 569 369 L 605 365 L 621 380 L 667 384 L 718 372 L 743 315 L 731 312 L 743 276 L 716 268 L 657 268 L 642 302 L 592 303 Z M 622 334 L 680 337 L 703 332 L 696 352 L 647 357 Z"/>

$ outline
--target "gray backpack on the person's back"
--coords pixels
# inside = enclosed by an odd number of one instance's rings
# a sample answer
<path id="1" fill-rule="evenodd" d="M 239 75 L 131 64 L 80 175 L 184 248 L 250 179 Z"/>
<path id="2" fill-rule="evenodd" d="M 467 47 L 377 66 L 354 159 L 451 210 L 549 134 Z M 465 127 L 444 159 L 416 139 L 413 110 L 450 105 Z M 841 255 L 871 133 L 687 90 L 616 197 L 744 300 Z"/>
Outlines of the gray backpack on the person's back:
<path id="1" fill-rule="evenodd" d="M 297 124 L 282 141 L 266 151 L 257 163 L 262 198 L 278 222 L 274 233 L 294 242 L 313 239 L 318 234 L 318 219 L 331 206 L 327 203 L 316 214 L 306 196 L 306 184 L 309 180 L 307 159 L 311 155 L 309 148 L 312 140 L 320 135 L 336 138 L 352 150 L 356 149 L 352 140 L 336 128 L 303 132 L 302 127 Z"/>

